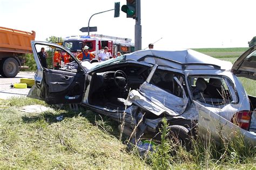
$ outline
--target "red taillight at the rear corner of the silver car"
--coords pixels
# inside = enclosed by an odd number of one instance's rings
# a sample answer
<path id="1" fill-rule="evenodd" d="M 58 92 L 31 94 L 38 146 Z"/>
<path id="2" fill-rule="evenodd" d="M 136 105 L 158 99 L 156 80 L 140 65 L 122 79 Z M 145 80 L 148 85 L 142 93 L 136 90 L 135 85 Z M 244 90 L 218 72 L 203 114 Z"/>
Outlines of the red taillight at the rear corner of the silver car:
<path id="1" fill-rule="evenodd" d="M 231 119 L 231 122 L 240 126 L 240 128 L 244 130 L 248 130 L 251 122 L 251 111 L 239 111 L 234 114 L 234 116 Z"/>

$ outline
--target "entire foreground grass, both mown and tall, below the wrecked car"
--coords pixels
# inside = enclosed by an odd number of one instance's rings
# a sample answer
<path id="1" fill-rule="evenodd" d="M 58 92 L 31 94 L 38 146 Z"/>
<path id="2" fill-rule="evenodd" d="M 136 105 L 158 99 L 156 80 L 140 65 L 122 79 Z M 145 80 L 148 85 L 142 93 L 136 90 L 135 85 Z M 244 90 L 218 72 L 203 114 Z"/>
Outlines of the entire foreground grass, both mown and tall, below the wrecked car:
<path id="1" fill-rule="evenodd" d="M 16 103 L 16 104 L 14 104 Z M 25 113 L 19 107 L 43 104 L 30 98 L 0 101 L 0 168 L 62 169 L 170 169 L 254 168 L 255 148 L 242 138 L 216 146 L 211 138 L 193 139 L 192 150 L 166 139 L 163 123 L 161 145 L 141 158 L 128 152 L 119 140 L 117 123 L 91 111 L 75 112 L 53 108 L 42 113 Z M 18 107 L 16 106 L 18 105 Z M 62 121 L 56 117 L 63 115 Z"/>

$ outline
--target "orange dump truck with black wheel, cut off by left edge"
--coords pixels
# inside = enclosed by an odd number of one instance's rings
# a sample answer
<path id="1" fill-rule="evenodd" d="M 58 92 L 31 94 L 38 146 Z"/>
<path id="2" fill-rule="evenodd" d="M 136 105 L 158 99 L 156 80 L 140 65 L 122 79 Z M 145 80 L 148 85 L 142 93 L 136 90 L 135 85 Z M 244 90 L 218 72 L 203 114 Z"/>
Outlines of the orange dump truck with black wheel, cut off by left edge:
<path id="1" fill-rule="evenodd" d="M 0 74 L 3 77 L 15 77 L 25 62 L 22 56 L 32 53 L 31 40 L 36 32 L 0 27 Z"/>

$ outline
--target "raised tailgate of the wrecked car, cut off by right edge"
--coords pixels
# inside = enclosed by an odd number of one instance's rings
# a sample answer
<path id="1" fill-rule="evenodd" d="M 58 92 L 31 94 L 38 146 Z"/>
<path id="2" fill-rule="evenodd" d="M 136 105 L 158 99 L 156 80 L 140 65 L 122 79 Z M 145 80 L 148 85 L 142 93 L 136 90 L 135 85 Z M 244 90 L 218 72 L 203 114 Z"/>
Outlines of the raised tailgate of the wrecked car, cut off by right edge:
<path id="1" fill-rule="evenodd" d="M 234 62 L 231 72 L 238 77 L 256 80 L 256 45 L 249 48 Z"/>

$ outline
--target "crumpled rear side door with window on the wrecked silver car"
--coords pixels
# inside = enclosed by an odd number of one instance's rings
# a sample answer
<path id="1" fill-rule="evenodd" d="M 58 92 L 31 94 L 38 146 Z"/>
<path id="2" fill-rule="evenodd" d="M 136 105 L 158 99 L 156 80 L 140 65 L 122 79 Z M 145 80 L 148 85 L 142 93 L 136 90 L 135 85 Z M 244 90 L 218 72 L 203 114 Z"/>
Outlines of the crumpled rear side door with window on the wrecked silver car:
<path id="1" fill-rule="evenodd" d="M 146 96 L 146 100 L 179 115 L 185 111 L 188 103 L 183 84 L 184 76 L 180 73 L 154 65 L 146 82 L 140 86 L 139 90 Z M 152 106 L 149 104 L 147 107 Z"/>

